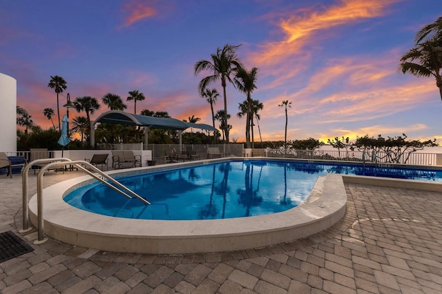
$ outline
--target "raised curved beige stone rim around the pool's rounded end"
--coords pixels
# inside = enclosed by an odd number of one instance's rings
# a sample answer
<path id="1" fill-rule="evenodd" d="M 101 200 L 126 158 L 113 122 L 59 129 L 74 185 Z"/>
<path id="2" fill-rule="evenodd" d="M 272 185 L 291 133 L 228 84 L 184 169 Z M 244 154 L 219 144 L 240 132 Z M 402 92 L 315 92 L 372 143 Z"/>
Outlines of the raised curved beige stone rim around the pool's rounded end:
<path id="1" fill-rule="evenodd" d="M 110 175 L 133 175 L 211 164 L 226 159 L 210 159 L 185 164 L 166 164 L 129 170 L 113 170 Z M 343 177 L 319 177 L 307 200 L 282 213 L 232 219 L 164 221 L 123 219 L 97 215 L 70 206 L 62 197 L 95 180 L 89 176 L 69 179 L 44 189 L 44 233 L 62 242 L 124 253 L 185 254 L 238 251 L 291 242 L 333 226 L 345 215 L 347 194 Z M 37 224 L 37 197 L 30 199 L 30 220 Z"/>

